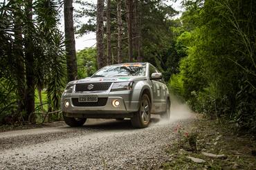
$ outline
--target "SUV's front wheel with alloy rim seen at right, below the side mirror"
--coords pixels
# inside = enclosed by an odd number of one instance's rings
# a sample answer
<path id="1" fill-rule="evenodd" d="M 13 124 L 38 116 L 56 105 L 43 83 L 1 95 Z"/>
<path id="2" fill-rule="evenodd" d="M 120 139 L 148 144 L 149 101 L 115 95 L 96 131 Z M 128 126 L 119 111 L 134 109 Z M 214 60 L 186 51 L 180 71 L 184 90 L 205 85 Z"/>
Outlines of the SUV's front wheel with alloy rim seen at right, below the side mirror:
<path id="1" fill-rule="evenodd" d="M 143 94 L 138 111 L 131 117 L 131 124 L 135 128 L 145 128 L 149 126 L 151 116 L 151 102 L 147 94 Z"/>

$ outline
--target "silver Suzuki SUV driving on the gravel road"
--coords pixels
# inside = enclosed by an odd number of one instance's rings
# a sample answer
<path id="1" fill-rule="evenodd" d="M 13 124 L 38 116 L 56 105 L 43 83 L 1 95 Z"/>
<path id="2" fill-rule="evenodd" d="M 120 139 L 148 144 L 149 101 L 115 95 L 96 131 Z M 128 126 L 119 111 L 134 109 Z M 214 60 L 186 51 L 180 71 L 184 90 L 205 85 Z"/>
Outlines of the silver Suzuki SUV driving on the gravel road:
<path id="1" fill-rule="evenodd" d="M 82 126 L 86 118 L 131 118 L 134 127 L 145 128 L 151 114 L 169 119 L 170 95 L 152 64 L 116 64 L 69 82 L 61 107 L 69 126 Z"/>

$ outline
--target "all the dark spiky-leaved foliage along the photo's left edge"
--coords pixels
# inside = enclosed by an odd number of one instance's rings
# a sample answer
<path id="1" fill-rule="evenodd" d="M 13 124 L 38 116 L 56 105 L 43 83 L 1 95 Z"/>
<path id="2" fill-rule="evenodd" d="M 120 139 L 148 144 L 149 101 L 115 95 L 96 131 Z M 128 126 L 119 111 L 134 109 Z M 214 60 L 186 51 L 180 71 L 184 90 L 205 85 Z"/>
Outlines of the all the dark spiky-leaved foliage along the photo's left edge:
<path id="1" fill-rule="evenodd" d="M 28 1 L 19 0 L 0 3 L 0 122 L 6 115 L 24 121 L 24 93 L 35 88 L 26 86 L 26 77 L 35 79 L 36 88 L 48 89 L 49 102 L 54 109 L 60 106 L 66 84 L 64 39 L 58 30 L 59 4 L 50 0 L 33 1 L 32 21 L 28 19 L 28 5 Z M 25 62 L 28 50 L 23 47 L 28 46 L 28 39 L 23 37 L 29 37 L 33 66 Z M 31 67 L 32 71 L 26 73 L 25 68 Z"/>

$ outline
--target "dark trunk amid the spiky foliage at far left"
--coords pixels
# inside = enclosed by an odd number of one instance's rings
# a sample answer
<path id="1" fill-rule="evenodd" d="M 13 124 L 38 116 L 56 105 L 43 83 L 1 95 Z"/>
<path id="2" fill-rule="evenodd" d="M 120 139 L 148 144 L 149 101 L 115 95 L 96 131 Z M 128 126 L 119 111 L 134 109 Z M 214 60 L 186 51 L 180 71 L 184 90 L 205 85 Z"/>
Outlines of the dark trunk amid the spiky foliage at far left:
<path id="1" fill-rule="evenodd" d="M 34 75 L 34 54 L 33 54 L 33 35 L 30 30 L 33 28 L 32 4 L 29 0 L 26 6 L 27 29 L 25 33 L 25 64 L 26 64 L 26 115 L 24 120 L 33 121 L 35 111 L 35 75 Z"/>

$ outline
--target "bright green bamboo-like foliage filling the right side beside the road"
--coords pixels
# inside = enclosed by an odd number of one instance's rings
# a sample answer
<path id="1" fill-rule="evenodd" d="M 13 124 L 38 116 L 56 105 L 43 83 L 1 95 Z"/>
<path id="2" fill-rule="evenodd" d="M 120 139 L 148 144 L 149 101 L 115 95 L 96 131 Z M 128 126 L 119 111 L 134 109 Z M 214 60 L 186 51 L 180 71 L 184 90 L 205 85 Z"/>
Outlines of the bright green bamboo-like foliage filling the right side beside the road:
<path id="1" fill-rule="evenodd" d="M 195 111 L 226 117 L 256 131 L 255 2 L 185 1 L 183 32 L 188 57 L 172 76 L 174 91 Z M 181 29 L 180 29 L 181 30 Z M 182 85 L 183 86 L 182 86 Z"/>

